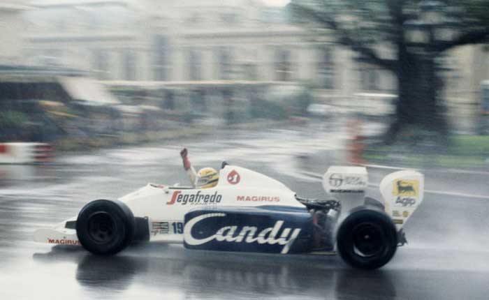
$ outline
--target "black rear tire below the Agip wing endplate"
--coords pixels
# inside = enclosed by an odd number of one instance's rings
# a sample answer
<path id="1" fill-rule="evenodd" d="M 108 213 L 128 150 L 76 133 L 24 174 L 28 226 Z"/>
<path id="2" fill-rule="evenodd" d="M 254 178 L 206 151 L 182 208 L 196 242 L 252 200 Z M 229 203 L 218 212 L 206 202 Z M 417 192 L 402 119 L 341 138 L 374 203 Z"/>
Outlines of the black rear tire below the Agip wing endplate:
<path id="1" fill-rule="evenodd" d="M 397 250 L 397 231 L 386 213 L 357 207 L 337 231 L 337 250 L 342 259 L 358 269 L 378 269 Z"/>

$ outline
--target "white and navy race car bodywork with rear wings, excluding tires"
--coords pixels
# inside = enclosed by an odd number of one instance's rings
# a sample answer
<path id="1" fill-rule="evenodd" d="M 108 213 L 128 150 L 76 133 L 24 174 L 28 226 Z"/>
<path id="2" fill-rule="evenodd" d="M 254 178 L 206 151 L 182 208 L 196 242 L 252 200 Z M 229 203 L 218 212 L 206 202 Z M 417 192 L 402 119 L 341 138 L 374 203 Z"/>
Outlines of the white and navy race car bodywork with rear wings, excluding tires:
<path id="1" fill-rule="evenodd" d="M 323 186 L 337 196 L 341 205 L 350 198 L 358 199 L 358 195 L 361 205 L 367 172 L 362 167 L 331 167 L 323 177 Z M 393 230 L 402 232 L 402 226 L 423 200 L 423 175 L 415 171 L 395 172 L 384 178 L 380 188 L 384 200 L 378 204 L 385 208 L 384 216 L 388 216 Z M 108 200 L 94 202 L 97 201 Z M 335 207 L 329 203 L 328 209 L 322 209 L 319 201 L 300 199 L 275 179 L 227 164 L 223 164 L 214 188 L 149 183 L 119 198 L 119 202 L 125 205 L 117 205 L 129 208 L 131 218 L 136 218 L 136 236 L 141 240 L 184 243 L 186 248 L 194 249 L 267 253 L 312 252 L 318 244 L 323 244 L 319 241 L 321 237 L 317 237 L 316 227 L 320 228 L 319 235 L 333 232 L 340 212 L 340 204 Z M 96 213 L 99 211 L 92 211 Z M 326 221 L 318 221 L 321 216 Z M 333 218 L 334 223 L 328 223 L 328 218 Z M 79 240 L 77 223 L 82 222 L 75 217 L 55 227 L 37 230 L 34 240 L 87 248 Z"/>

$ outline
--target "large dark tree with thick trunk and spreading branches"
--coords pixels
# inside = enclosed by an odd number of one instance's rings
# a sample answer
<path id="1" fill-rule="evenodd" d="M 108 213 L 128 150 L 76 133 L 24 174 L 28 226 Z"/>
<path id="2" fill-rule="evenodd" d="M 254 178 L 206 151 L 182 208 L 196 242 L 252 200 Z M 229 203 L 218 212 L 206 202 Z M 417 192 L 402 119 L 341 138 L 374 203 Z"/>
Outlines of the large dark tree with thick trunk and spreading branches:
<path id="1" fill-rule="evenodd" d="M 386 142 L 393 142 L 406 125 L 445 134 L 448 126 L 438 95 L 442 80 L 437 73 L 437 57 L 454 47 L 489 40 L 488 0 L 446 0 L 437 3 L 443 6 L 449 19 L 443 26 L 451 27 L 453 37 L 430 38 L 423 43 L 423 49 L 413 47 L 407 42 L 408 24 L 420 20 L 420 6 L 430 3 L 435 1 L 292 0 L 289 3 L 294 22 L 319 34 L 334 36 L 337 43 L 357 52 L 363 61 L 395 75 L 396 114 L 385 135 Z M 427 26 L 434 28 L 438 23 L 439 20 L 430 20 Z M 381 53 L 381 49 L 388 52 Z"/>

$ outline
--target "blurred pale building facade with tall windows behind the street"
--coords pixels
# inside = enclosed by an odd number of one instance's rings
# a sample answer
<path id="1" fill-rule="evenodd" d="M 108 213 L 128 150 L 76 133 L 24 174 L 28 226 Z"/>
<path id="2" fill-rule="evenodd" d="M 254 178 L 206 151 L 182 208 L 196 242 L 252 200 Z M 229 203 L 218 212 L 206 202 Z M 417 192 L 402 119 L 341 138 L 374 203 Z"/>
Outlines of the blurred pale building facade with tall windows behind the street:
<path id="1" fill-rule="evenodd" d="M 395 92 L 390 73 L 361 63 L 327 37 L 287 24 L 283 8 L 257 0 L 38 0 L 31 5 L 35 9 L 24 13 L 24 59 L 32 65 L 78 68 L 117 82 L 309 82 L 325 99 Z M 459 89 L 475 89 L 489 77 L 488 53 L 477 50 L 476 61 L 475 48 L 454 52 L 450 59 L 453 72 L 447 76 Z"/>

